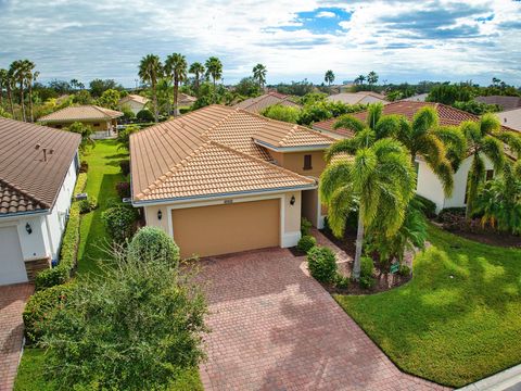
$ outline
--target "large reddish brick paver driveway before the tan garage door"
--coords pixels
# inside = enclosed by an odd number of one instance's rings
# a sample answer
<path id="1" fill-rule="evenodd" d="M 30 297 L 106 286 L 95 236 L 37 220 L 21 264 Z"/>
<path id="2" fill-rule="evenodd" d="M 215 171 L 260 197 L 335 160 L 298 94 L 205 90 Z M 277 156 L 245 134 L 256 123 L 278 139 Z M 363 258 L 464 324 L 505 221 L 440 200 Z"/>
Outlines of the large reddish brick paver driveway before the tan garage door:
<path id="1" fill-rule="evenodd" d="M 206 390 L 442 389 L 401 373 L 305 274 L 304 257 L 269 249 L 202 263 Z"/>

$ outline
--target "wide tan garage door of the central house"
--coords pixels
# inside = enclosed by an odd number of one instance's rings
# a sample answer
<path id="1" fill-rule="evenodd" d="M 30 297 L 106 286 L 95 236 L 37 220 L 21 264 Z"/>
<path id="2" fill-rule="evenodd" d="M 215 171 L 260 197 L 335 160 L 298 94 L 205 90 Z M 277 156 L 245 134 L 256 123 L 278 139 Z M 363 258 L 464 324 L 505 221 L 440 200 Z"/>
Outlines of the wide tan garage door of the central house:
<path id="1" fill-rule="evenodd" d="M 279 245 L 279 199 L 171 211 L 181 256 L 229 254 Z"/>

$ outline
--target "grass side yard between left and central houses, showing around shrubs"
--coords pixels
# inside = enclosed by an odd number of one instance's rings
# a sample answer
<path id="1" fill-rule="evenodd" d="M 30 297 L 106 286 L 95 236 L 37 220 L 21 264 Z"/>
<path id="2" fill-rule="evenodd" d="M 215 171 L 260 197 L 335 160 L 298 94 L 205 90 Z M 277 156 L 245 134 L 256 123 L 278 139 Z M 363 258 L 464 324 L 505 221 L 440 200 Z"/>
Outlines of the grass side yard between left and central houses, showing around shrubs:
<path id="1" fill-rule="evenodd" d="M 80 242 L 78 249 L 78 277 L 98 274 L 97 261 L 105 257 L 109 241 L 101 213 L 107 207 L 111 199 L 117 198 L 115 185 L 124 180 L 119 171 L 119 161 L 128 154 L 118 149 L 115 140 L 97 141 L 84 159 L 89 164 L 85 191 L 96 197 L 99 207 L 81 218 Z M 55 390 L 52 381 L 43 376 L 45 352 L 40 349 L 24 350 L 15 382 L 16 391 Z M 201 390 L 198 369 L 189 370 L 171 384 L 170 390 Z"/>

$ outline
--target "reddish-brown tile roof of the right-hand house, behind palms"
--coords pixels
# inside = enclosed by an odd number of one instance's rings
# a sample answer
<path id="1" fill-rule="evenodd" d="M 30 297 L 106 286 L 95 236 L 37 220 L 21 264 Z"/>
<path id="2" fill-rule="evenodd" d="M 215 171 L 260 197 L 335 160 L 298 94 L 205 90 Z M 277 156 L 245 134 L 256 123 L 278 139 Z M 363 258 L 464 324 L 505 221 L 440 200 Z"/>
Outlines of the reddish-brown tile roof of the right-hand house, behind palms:
<path id="1" fill-rule="evenodd" d="M 442 103 L 432 103 L 432 102 L 409 102 L 409 101 L 397 101 L 385 104 L 383 106 L 383 115 L 398 114 L 405 115 L 408 119 L 412 119 L 412 116 L 418 110 L 424 106 L 432 106 L 437 111 L 440 116 L 441 125 L 459 125 L 463 121 L 479 121 L 479 116 L 463 112 L 458 109 L 442 104 Z M 367 111 L 352 114 L 354 117 L 366 121 Z M 322 121 L 313 125 L 314 129 L 327 130 L 335 133 L 340 136 L 352 137 L 353 131 L 348 129 L 333 129 L 334 123 L 338 118 L 330 118 Z"/>

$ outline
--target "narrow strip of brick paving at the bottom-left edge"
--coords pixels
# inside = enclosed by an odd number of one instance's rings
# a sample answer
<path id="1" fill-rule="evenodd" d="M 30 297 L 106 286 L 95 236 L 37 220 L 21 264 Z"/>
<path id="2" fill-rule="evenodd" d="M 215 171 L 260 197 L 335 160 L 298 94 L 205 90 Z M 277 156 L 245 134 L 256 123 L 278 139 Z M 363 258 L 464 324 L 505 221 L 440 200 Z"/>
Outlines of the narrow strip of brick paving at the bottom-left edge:
<path id="1" fill-rule="evenodd" d="M 24 337 L 22 313 L 31 293 L 29 283 L 0 287 L 0 391 L 14 386 Z"/>

